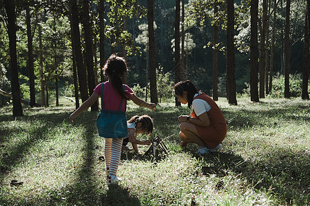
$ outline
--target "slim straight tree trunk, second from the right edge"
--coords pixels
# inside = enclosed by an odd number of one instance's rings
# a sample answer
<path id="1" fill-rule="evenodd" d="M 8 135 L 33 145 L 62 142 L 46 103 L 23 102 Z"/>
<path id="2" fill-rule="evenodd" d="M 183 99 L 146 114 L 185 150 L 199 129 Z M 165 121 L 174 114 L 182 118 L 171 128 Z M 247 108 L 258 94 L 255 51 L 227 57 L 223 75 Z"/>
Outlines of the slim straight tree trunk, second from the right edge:
<path id="1" fill-rule="evenodd" d="M 286 16 L 285 16 L 285 98 L 289 98 L 289 52 L 290 52 L 290 39 L 289 39 L 289 10 L 291 8 L 291 0 L 287 0 Z"/>

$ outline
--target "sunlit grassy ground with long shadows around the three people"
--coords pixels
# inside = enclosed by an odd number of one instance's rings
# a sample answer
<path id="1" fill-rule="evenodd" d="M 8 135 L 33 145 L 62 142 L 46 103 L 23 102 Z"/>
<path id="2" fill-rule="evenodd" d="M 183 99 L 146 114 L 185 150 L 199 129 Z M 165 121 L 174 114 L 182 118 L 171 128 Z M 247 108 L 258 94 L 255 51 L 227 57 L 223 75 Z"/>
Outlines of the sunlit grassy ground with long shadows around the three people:
<path id="1" fill-rule="evenodd" d="M 0 205 L 309 205 L 309 101 L 218 104 L 228 124 L 223 148 L 196 157 L 196 146 L 178 146 L 176 118 L 190 113 L 187 106 L 165 103 L 153 112 L 130 103 L 127 118 L 151 115 L 169 155 L 123 154 L 123 181 L 110 189 L 97 113 L 70 124 L 73 105 L 25 108 L 17 118 L 12 107 L 0 108 Z"/>

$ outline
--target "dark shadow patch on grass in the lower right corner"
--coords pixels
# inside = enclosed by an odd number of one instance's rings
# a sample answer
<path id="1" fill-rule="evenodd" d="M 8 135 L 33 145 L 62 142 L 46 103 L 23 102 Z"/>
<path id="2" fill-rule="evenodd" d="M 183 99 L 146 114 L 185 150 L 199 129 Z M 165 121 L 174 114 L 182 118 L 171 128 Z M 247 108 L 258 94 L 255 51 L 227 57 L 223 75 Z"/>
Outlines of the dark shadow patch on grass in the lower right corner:
<path id="1" fill-rule="evenodd" d="M 201 168 L 204 175 L 216 174 L 223 177 L 232 171 L 245 177 L 257 190 L 271 192 L 280 200 L 281 205 L 309 204 L 310 159 L 307 153 L 275 150 L 267 156 L 256 163 L 245 161 L 232 152 L 212 152 L 196 158 L 209 163 Z M 218 190 L 223 189 L 223 182 L 219 181 L 216 187 Z"/>

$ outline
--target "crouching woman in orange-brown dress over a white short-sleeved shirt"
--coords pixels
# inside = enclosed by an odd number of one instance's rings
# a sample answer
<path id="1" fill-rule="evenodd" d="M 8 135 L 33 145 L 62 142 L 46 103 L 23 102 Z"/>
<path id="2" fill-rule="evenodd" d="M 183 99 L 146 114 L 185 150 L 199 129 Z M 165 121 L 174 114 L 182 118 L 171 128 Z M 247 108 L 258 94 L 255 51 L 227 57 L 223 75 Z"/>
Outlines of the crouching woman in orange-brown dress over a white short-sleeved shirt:
<path id="1" fill-rule="evenodd" d="M 186 148 L 188 143 L 198 144 L 198 155 L 218 150 L 226 136 L 227 126 L 220 108 L 205 93 L 198 91 L 189 80 L 174 85 L 178 102 L 193 108 L 192 114 L 180 115 L 180 146 Z"/>

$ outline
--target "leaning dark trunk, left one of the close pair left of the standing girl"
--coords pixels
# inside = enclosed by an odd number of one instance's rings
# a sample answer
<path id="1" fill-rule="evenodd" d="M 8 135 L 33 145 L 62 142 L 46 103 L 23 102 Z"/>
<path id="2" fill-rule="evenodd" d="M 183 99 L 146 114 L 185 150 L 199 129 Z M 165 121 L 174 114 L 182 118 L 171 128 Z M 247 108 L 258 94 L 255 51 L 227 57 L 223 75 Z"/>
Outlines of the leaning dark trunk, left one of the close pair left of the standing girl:
<path id="1" fill-rule="evenodd" d="M 80 30 L 79 30 L 79 16 L 76 5 L 76 0 L 70 0 L 70 10 L 71 10 L 71 22 L 72 30 L 71 35 L 74 41 L 72 42 L 72 48 L 74 49 L 74 54 L 76 56 L 76 67 L 77 73 L 79 76 L 79 89 L 81 93 L 82 102 L 85 102 L 88 99 L 87 93 L 87 75 L 86 70 L 83 65 L 83 56 L 81 53 L 81 39 L 80 39 Z"/>

